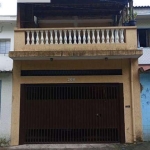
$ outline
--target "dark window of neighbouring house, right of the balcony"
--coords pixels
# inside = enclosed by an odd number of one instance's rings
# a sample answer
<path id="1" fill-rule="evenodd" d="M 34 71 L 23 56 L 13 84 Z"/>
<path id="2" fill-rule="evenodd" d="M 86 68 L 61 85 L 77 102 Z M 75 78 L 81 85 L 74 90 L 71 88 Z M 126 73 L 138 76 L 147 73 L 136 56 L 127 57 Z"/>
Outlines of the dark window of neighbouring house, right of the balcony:
<path id="1" fill-rule="evenodd" d="M 150 47 L 150 29 L 138 29 L 138 47 Z"/>

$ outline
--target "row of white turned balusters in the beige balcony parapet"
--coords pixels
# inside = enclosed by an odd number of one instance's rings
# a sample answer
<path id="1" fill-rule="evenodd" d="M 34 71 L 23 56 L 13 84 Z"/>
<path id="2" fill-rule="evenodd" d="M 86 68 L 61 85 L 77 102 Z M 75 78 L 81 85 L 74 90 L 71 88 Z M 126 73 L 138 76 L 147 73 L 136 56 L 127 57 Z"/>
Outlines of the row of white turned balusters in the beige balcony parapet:
<path id="1" fill-rule="evenodd" d="M 25 45 L 125 43 L 125 28 L 26 29 Z"/>

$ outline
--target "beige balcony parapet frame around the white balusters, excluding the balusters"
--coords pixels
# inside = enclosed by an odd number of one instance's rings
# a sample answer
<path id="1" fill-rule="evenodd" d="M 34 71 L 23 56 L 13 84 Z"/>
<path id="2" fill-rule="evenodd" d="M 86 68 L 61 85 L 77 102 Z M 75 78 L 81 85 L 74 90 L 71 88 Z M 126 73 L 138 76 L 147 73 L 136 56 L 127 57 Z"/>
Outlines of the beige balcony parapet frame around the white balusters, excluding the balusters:
<path id="1" fill-rule="evenodd" d="M 66 25 L 65 25 L 66 26 Z M 43 32 L 49 30 L 56 30 L 56 28 L 29 28 L 15 30 L 15 48 L 14 51 L 74 51 L 74 50 L 136 50 L 137 49 L 137 29 L 136 27 L 84 27 L 84 28 L 58 28 L 58 30 L 124 30 L 124 43 L 100 43 L 100 44 L 31 44 L 27 45 L 27 31 L 36 32 L 41 30 Z M 91 35 L 92 37 L 92 35 Z M 100 37 L 102 38 L 102 37 Z M 105 35 L 106 38 L 106 35 Z M 111 38 L 111 36 L 110 36 Z M 106 39 L 105 39 L 106 40 Z"/>

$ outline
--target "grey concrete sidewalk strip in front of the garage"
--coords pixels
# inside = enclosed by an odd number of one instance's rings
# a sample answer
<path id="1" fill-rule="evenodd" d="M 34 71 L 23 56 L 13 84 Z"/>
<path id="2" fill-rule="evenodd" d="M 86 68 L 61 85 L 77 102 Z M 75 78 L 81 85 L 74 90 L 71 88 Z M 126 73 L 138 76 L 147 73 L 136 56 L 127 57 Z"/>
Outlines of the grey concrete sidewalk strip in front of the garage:
<path id="1" fill-rule="evenodd" d="M 150 150 L 150 142 L 137 144 L 35 144 L 0 148 L 0 150 Z"/>

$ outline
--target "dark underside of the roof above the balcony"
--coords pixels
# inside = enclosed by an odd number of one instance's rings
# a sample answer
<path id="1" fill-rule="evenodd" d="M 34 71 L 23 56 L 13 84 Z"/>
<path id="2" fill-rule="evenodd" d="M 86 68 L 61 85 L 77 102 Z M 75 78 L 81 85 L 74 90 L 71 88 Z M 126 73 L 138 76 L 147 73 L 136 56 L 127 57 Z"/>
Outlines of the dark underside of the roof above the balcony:
<path id="1" fill-rule="evenodd" d="M 33 9 L 33 15 L 38 20 L 77 16 L 79 18 L 112 19 L 119 22 L 121 11 L 127 6 L 127 3 L 128 0 L 18 0 L 20 7 Z M 22 19 L 22 21 L 27 22 L 28 20 Z"/>

